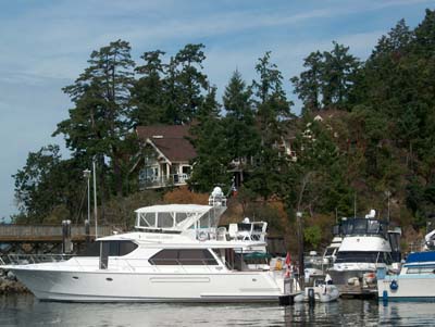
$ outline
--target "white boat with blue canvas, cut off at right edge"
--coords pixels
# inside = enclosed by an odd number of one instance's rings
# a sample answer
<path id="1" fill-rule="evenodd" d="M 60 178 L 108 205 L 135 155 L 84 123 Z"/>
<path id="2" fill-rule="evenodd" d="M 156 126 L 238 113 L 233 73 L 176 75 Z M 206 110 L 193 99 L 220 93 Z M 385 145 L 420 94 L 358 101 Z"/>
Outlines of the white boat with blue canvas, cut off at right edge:
<path id="1" fill-rule="evenodd" d="M 409 254 L 398 275 L 378 269 L 377 294 L 383 301 L 435 302 L 435 251 Z"/>

